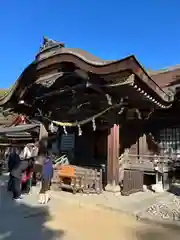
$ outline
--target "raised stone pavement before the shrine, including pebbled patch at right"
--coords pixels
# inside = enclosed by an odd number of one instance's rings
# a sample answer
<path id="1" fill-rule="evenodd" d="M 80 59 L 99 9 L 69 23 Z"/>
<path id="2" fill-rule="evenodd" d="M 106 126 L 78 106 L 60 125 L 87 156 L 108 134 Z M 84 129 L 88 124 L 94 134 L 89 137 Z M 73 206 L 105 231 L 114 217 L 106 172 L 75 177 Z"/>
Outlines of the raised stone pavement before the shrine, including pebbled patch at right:
<path id="1" fill-rule="evenodd" d="M 179 186 L 180 192 L 180 186 Z M 64 191 L 53 191 L 54 199 L 61 199 L 84 207 L 101 208 L 134 216 L 136 219 L 169 221 L 180 226 L 180 197 L 173 193 L 138 192 L 130 196 L 104 192 L 101 195 L 73 195 Z"/>

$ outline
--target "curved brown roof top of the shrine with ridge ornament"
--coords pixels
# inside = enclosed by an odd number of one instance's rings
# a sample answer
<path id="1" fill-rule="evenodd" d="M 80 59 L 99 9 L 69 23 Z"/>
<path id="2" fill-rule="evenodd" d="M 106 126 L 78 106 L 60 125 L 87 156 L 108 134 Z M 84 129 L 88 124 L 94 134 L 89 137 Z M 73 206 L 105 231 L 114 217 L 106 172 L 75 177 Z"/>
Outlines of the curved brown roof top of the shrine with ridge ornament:
<path id="1" fill-rule="evenodd" d="M 180 75 L 180 68 L 177 68 L 167 72 L 152 72 L 151 77 L 142 68 L 135 56 L 128 56 L 121 60 L 107 61 L 97 58 L 81 49 L 65 48 L 64 44 L 45 38 L 43 46 L 41 46 L 40 52 L 36 56 L 36 60 L 24 70 L 9 93 L 6 96 L 0 97 L 0 105 L 10 101 L 18 88 L 25 89 L 27 85 L 30 86 L 33 81 L 37 80 L 36 74 L 32 74 L 33 71 L 36 73 L 40 69 L 45 69 L 50 65 L 61 62 L 72 62 L 86 72 L 102 76 L 129 70 L 165 104 L 172 102 L 173 98 L 162 87 L 176 80 L 177 75 Z"/>

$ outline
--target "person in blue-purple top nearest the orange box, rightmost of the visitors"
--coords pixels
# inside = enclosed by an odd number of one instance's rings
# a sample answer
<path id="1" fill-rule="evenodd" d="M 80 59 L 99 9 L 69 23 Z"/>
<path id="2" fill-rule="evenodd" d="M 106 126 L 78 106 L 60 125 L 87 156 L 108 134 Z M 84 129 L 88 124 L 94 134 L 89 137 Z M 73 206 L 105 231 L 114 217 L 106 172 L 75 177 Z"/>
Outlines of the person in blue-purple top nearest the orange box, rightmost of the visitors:
<path id="1" fill-rule="evenodd" d="M 47 204 L 50 200 L 49 190 L 51 185 L 51 179 L 53 176 L 53 165 L 50 157 L 45 157 L 43 166 L 42 166 L 42 179 L 41 179 L 41 190 L 39 203 Z"/>

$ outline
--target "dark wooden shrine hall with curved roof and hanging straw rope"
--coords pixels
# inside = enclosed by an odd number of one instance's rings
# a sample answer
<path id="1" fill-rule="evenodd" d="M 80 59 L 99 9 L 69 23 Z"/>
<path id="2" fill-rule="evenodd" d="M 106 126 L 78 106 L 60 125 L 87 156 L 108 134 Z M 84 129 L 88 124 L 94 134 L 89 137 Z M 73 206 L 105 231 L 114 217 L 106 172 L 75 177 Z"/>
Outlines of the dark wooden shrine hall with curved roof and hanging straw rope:
<path id="1" fill-rule="evenodd" d="M 166 74 L 169 71 L 147 72 L 135 56 L 106 61 L 44 38 L 0 106 L 43 122 L 61 140 L 71 136 L 73 163 L 104 164 L 106 190 L 122 187 L 129 194 L 142 190 L 149 181 L 145 175 L 156 175 L 157 159 L 163 162 L 163 184 L 168 181 L 171 170 L 164 164 L 170 155 L 163 147 L 168 131 L 180 138 L 180 106 L 178 79 L 170 83 L 167 77 L 163 85 Z M 164 140 L 163 131 L 168 132 Z M 175 150 L 179 138 L 170 141 Z"/>

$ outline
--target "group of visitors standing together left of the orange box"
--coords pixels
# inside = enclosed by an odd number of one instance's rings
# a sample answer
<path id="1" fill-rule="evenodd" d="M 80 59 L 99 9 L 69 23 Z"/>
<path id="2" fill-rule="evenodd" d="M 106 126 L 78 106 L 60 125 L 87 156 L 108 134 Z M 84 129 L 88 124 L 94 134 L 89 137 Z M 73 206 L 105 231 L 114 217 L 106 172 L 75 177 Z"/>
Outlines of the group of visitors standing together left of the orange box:
<path id="1" fill-rule="evenodd" d="M 39 203 L 48 203 L 53 165 L 45 145 L 26 145 L 22 152 L 12 147 L 6 157 L 9 172 L 7 190 L 12 192 L 13 199 L 19 201 L 23 194 L 29 194 L 32 184 L 37 183 L 38 174 L 41 181 Z"/>

